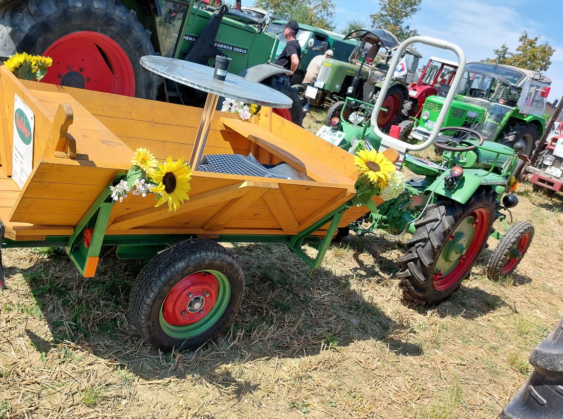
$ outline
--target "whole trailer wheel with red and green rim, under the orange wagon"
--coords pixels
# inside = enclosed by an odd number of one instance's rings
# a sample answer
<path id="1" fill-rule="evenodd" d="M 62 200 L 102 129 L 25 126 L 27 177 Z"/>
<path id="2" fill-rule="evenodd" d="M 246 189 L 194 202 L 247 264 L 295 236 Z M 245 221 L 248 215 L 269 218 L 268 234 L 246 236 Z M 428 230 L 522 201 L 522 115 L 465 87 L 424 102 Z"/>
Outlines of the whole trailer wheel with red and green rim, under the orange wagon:
<path id="1" fill-rule="evenodd" d="M 195 349 L 233 321 L 244 291 L 240 264 L 211 240 L 180 242 L 155 256 L 131 291 L 142 338 L 166 352 Z"/>

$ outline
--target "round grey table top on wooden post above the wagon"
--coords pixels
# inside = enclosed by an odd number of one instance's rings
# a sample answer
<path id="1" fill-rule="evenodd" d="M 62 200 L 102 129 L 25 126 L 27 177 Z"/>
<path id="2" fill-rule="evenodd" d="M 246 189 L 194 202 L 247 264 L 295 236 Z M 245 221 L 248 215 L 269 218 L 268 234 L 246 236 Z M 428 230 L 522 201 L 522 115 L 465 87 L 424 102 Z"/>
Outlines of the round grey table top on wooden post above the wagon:
<path id="1" fill-rule="evenodd" d="M 203 92 L 218 94 L 255 105 L 291 107 L 292 100 L 270 87 L 251 82 L 235 74 L 227 73 L 225 81 L 213 78 L 215 69 L 176 58 L 145 55 L 141 65 L 158 75 Z"/>

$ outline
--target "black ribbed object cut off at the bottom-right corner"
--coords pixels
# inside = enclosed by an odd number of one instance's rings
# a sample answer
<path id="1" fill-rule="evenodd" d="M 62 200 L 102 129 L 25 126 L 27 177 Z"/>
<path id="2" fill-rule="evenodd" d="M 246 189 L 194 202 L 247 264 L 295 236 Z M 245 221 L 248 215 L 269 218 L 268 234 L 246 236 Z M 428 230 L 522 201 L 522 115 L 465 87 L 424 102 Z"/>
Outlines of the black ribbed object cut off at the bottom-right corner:
<path id="1" fill-rule="evenodd" d="M 563 417 L 563 318 L 530 355 L 534 372 L 503 409 L 501 419 Z"/>

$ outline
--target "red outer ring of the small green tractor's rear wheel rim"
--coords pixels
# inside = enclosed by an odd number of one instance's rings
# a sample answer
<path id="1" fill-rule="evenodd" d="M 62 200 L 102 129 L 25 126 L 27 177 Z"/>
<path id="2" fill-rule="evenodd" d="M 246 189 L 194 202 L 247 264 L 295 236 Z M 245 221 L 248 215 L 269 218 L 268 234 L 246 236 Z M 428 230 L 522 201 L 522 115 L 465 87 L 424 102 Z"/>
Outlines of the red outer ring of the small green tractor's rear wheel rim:
<path id="1" fill-rule="evenodd" d="M 455 232 L 463 230 L 462 223 L 464 222 L 470 222 L 471 226 L 474 227 L 471 237 L 468 237 L 468 246 L 464 249 L 459 258 L 453 260 L 453 262 L 456 263 L 453 269 L 443 275 L 443 271 L 439 268 L 441 261 L 446 259 L 446 256 L 444 255 L 445 250 L 447 249 L 446 242 L 446 245 L 438 256 L 434 268 L 434 275 L 432 276 L 432 285 L 437 291 L 444 291 L 452 287 L 459 278 L 467 272 L 467 269 L 471 268 L 473 262 L 475 262 L 475 259 L 479 256 L 481 245 L 483 244 L 489 229 L 489 212 L 484 208 L 477 208 L 472 211 L 471 214 L 462 219 L 457 226 L 455 226 L 454 232 L 450 235 L 448 241 L 455 240 Z"/>

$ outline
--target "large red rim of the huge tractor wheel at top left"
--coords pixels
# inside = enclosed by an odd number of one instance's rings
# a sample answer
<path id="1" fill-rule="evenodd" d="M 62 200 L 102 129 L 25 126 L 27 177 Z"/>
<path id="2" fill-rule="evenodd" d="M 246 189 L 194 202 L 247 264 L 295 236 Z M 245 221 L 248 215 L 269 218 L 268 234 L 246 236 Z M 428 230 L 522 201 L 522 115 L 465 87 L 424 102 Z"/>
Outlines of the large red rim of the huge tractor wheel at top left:
<path id="1" fill-rule="evenodd" d="M 53 58 L 53 65 L 42 82 L 135 96 L 131 61 L 106 35 L 75 32 L 57 39 L 43 55 Z"/>

